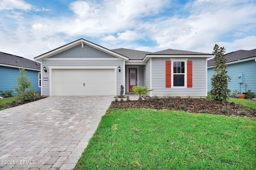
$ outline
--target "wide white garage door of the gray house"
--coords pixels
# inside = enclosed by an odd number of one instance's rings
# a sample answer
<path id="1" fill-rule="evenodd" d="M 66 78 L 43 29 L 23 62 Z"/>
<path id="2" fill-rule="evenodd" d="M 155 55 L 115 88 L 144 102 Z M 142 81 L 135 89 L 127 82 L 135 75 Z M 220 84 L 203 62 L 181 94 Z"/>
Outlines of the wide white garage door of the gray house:
<path id="1" fill-rule="evenodd" d="M 52 96 L 116 95 L 114 69 L 52 69 Z"/>

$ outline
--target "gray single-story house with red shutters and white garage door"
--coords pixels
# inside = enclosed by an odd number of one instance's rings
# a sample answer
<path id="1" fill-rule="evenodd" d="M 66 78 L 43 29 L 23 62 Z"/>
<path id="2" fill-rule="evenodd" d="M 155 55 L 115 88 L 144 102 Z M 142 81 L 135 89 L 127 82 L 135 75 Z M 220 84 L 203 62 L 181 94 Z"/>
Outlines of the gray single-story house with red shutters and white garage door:
<path id="1" fill-rule="evenodd" d="M 78 39 L 34 59 L 41 62 L 44 96 L 114 96 L 121 85 L 125 94 L 138 85 L 154 89 L 150 96 L 206 97 L 210 57 L 174 49 L 110 50 Z"/>

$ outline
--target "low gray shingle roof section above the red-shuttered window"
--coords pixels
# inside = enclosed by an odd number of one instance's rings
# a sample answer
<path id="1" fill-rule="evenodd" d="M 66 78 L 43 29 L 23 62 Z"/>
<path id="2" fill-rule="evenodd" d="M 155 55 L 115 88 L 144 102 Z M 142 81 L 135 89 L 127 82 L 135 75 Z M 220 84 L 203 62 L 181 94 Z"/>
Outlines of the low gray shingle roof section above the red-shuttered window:
<path id="1" fill-rule="evenodd" d="M 167 49 L 167 50 L 151 53 L 150 55 L 212 55 L 212 54 L 198 53 L 198 52 L 193 52 L 193 51 Z"/>

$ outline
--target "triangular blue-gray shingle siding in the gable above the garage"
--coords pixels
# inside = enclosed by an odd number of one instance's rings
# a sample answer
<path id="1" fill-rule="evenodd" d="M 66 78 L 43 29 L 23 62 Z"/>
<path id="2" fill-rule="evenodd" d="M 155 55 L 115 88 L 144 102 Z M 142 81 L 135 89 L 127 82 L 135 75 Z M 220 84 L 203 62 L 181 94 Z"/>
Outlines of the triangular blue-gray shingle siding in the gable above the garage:
<path id="1" fill-rule="evenodd" d="M 72 47 L 71 49 L 62 51 L 61 53 L 53 55 L 49 58 L 116 58 L 116 57 L 84 44 L 84 48 L 82 48 L 82 45 L 77 45 L 75 47 Z"/>

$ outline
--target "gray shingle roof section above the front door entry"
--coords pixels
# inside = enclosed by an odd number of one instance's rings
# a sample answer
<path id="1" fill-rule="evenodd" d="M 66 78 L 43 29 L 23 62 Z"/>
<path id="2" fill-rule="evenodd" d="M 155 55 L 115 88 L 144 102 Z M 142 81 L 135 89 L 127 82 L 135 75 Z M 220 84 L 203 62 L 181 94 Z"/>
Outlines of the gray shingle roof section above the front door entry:
<path id="1" fill-rule="evenodd" d="M 146 54 L 150 54 L 150 52 L 147 51 L 138 51 L 124 48 L 112 49 L 112 51 L 129 57 L 129 60 L 142 60 Z"/>

